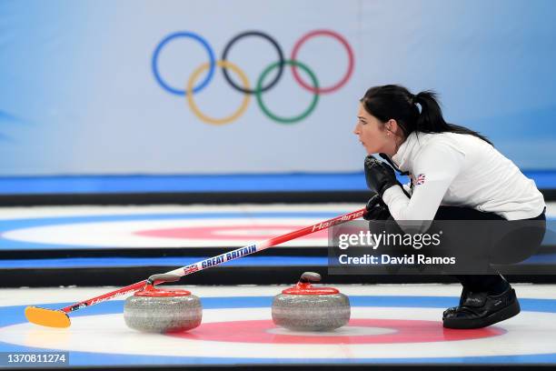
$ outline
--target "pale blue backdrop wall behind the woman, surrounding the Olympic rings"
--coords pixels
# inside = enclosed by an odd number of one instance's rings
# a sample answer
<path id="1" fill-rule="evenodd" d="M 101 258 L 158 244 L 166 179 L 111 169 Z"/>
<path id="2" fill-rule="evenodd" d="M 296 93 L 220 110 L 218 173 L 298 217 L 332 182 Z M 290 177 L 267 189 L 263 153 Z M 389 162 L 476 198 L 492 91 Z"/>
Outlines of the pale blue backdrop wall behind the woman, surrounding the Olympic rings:
<path id="1" fill-rule="evenodd" d="M 556 169 L 555 15 L 551 0 L 4 0 L 0 175 L 360 171 L 364 152 L 352 135 L 357 101 L 367 87 L 389 83 L 437 90 L 448 121 L 488 135 L 521 168 Z M 232 123 L 206 124 L 154 77 L 154 50 L 176 32 L 204 37 L 220 59 L 234 35 L 258 30 L 290 58 L 315 29 L 345 38 L 354 69 L 293 124 L 264 115 L 254 96 Z M 257 37 L 238 41 L 228 56 L 251 85 L 277 61 L 273 46 Z M 157 65 L 168 85 L 184 89 L 208 60 L 200 43 L 182 37 L 164 45 Z M 323 36 L 307 40 L 297 60 L 322 86 L 349 65 L 345 47 Z M 216 68 L 194 101 L 222 117 L 244 96 Z M 313 99 L 289 67 L 262 96 L 284 116 Z"/>

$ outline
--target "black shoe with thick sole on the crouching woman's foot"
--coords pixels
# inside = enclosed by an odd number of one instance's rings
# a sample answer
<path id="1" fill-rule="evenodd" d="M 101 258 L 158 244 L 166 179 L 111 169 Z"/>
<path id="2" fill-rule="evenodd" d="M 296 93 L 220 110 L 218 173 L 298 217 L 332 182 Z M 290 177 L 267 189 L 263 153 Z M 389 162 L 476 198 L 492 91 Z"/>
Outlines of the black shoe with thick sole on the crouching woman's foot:
<path id="1" fill-rule="evenodd" d="M 449 308 L 442 316 L 446 328 L 482 328 L 520 313 L 520 303 L 510 286 L 499 295 L 467 292 L 460 306 Z"/>

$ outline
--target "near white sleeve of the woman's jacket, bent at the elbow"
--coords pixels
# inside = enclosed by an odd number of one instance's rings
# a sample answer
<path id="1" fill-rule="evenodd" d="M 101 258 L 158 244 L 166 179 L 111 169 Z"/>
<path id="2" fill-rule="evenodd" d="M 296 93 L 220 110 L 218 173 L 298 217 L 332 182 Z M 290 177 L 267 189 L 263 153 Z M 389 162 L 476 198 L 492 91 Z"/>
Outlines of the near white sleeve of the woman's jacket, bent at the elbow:
<path id="1" fill-rule="evenodd" d="M 400 186 L 388 188 L 382 196 L 394 220 L 432 220 L 464 159 L 451 145 L 431 143 L 423 148 L 413 160 L 412 198 Z"/>

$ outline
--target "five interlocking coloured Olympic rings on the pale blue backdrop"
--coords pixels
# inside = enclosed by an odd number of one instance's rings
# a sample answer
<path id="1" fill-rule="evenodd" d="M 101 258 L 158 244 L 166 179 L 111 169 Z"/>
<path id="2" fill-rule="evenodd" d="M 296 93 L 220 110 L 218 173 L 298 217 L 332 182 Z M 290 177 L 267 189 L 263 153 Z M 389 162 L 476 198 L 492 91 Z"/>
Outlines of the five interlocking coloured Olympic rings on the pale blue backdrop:
<path id="1" fill-rule="evenodd" d="M 265 41 L 268 41 L 271 45 L 273 45 L 273 48 L 276 50 L 276 54 L 278 55 L 278 60 L 276 62 L 266 66 L 263 69 L 263 72 L 261 73 L 261 75 L 259 75 L 254 88 L 251 87 L 249 79 L 247 78 L 247 75 L 245 75 L 243 70 L 239 66 L 233 64 L 227 59 L 230 49 L 234 44 L 236 44 L 237 42 L 239 42 L 241 39 L 245 37 L 252 37 L 252 36 L 261 37 Z M 314 75 L 313 71 L 309 68 L 309 66 L 297 60 L 297 55 L 299 54 L 299 51 L 303 46 L 303 44 L 307 42 L 307 40 L 316 36 L 332 37 L 333 39 L 338 41 L 341 45 L 343 45 L 343 48 L 345 49 L 348 55 L 347 71 L 343 74 L 343 76 L 338 82 L 330 86 L 320 86 L 316 75 Z M 203 65 L 199 65 L 196 69 L 194 69 L 193 73 L 189 76 L 189 79 L 185 84 L 185 89 L 181 89 L 167 84 L 162 78 L 162 76 L 160 75 L 158 69 L 158 58 L 164 46 L 168 45 L 170 42 L 178 38 L 183 38 L 183 37 L 192 39 L 198 42 L 199 44 L 201 44 L 204 50 L 206 51 L 206 54 L 208 55 L 208 62 L 204 63 Z M 313 100 L 311 101 L 310 105 L 301 114 L 290 116 L 290 117 L 284 117 L 281 115 L 274 114 L 263 102 L 263 93 L 272 89 L 273 86 L 276 85 L 278 81 L 280 81 L 283 75 L 284 65 L 289 65 L 291 67 L 293 78 L 299 85 L 303 87 L 303 89 L 313 93 Z M 276 40 L 274 40 L 272 36 L 267 35 L 260 31 L 246 31 L 239 35 L 235 35 L 225 45 L 225 47 L 223 48 L 223 53 L 220 59 L 218 60 L 216 60 L 214 56 L 213 48 L 211 47 L 211 45 L 209 45 L 209 43 L 201 35 L 195 34 L 193 32 L 187 32 L 187 31 L 176 32 L 174 34 L 167 35 L 166 37 L 164 37 L 164 39 L 154 49 L 154 54 L 152 59 L 153 74 L 157 83 L 161 85 L 164 88 L 164 90 L 166 90 L 168 93 L 171 93 L 173 95 L 185 96 L 187 105 L 189 105 L 194 115 L 197 116 L 204 123 L 212 124 L 212 125 L 229 124 L 234 120 L 236 120 L 237 118 L 239 118 L 241 115 L 243 115 L 243 113 L 247 109 L 247 106 L 249 105 L 249 102 L 251 100 L 251 95 L 255 95 L 257 104 L 263 111 L 263 114 L 268 116 L 273 121 L 280 124 L 297 123 L 313 113 L 313 110 L 315 109 L 319 101 L 319 95 L 333 93 L 338 89 L 340 89 L 343 85 L 345 85 L 349 81 L 350 77 L 352 76 L 353 65 L 354 65 L 354 58 L 353 58 L 352 46 L 347 42 L 347 40 L 342 35 L 339 35 L 338 33 L 333 32 L 331 30 L 314 30 L 312 32 L 303 35 L 293 45 L 293 50 L 289 59 L 284 58 L 281 46 L 276 42 Z M 243 93 L 244 95 L 240 107 L 235 112 L 233 112 L 232 115 L 226 117 L 220 117 L 220 118 L 215 118 L 209 115 L 205 115 L 204 113 L 201 112 L 201 110 L 195 104 L 194 101 L 194 94 L 199 93 L 201 90 L 203 90 L 213 79 L 214 70 L 216 69 L 216 66 L 222 68 L 223 77 L 226 80 L 226 82 L 230 86 L 232 86 L 234 90 Z M 274 69 L 277 69 L 276 75 L 274 75 L 272 80 L 267 82 L 266 80 L 268 75 L 270 75 L 270 73 Z M 310 83 L 307 83 L 303 80 L 303 78 L 299 74 L 298 71 L 299 69 L 301 69 L 305 74 L 309 76 Z M 206 70 L 208 70 L 207 75 L 204 77 L 202 81 L 198 81 L 199 76 L 203 74 L 204 71 Z M 235 82 L 233 82 L 232 78 L 230 77 L 229 71 L 232 71 L 235 75 L 239 76 L 241 85 L 237 85 Z"/>

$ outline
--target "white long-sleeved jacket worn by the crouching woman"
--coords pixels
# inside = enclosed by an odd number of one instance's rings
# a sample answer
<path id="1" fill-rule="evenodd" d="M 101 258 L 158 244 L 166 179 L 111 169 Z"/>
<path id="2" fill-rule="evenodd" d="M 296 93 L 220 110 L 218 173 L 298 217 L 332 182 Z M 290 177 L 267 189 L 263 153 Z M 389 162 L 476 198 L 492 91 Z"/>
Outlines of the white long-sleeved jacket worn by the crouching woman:
<path id="1" fill-rule="evenodd" d="M 535 182 L 492 145 L 473 135 L 412 133 L 392 156 L 412 178 L 382 199 L 395 220 L 432 220 L 438 207 L 466 206 L 508 220 L 539 216 L 544 197 Z"/>

